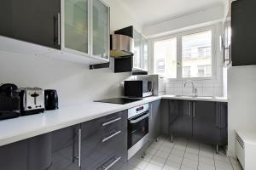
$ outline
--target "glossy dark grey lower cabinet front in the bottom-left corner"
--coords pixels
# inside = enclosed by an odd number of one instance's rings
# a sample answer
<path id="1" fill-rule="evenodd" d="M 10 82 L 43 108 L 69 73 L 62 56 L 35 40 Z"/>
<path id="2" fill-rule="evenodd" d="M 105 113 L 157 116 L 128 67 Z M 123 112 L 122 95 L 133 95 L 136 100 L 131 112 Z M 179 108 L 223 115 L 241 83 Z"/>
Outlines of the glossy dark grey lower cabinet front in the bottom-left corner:
<path id="1" fill-rule="evenodd" d="M 46 170 L 50 164 L 50 133 L 0 147 L 0 169 Z"/>

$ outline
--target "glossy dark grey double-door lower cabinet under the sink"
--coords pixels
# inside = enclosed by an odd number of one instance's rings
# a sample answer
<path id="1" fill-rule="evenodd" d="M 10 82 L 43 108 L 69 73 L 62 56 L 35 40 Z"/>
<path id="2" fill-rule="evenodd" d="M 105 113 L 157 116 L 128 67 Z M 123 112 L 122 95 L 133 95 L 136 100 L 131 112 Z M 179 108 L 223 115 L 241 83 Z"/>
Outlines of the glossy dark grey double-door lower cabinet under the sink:
<path id="1" fill-rule="evenodd" d="M 208 144 L 227 144 L 227 103 L 170 100 L 169 132 Z"/>

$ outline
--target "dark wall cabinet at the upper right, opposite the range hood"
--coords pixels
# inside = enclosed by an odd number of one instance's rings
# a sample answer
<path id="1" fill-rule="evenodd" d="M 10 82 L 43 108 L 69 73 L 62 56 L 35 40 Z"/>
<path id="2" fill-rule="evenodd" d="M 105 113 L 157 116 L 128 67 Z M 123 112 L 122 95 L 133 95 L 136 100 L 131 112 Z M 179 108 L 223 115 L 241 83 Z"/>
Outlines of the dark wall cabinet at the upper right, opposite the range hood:
<path id="1" fill-rule="evenodd" d="M 255 40 L 256 24 L 252 16 L 256 14 L 256 2 L 235 1 L 231 5 L 231 55 L 232 65 L 256 65 Z"/>

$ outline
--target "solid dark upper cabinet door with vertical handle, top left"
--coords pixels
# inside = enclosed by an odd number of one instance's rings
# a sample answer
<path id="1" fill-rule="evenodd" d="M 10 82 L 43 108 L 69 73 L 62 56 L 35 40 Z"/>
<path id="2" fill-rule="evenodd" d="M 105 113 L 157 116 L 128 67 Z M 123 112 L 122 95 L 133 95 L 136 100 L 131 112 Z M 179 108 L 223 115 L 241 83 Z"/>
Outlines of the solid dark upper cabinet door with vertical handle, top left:
<path id="1" fill-rule="evenodd" d="M 0 35 L 61 48 L 60 0 L 3 0 Z"/>

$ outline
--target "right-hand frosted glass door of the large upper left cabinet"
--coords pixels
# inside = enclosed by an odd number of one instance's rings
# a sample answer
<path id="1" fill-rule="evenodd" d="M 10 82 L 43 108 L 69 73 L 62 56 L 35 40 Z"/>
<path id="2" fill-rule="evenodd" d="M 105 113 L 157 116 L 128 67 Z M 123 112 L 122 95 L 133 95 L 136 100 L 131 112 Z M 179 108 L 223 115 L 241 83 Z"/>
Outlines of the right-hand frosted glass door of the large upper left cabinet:
<path id="1" fill-rule="evenodd" d="M 109 56 L 109 7 L 101 0 L 92 0 L 92 54 L 108 60 Z"/>

